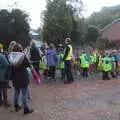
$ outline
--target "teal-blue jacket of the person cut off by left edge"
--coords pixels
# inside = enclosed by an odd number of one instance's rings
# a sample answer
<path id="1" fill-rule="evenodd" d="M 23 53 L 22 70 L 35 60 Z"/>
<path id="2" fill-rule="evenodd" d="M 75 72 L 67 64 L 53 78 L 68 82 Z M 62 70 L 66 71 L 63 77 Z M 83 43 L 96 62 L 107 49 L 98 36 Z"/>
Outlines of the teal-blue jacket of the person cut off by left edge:
<path id="1" fill-rule="evenodd" d="M 0 82 L 6 82 L 5 73 L 8 69 L 9 63 L 3 53 L 0 53 Z"/>

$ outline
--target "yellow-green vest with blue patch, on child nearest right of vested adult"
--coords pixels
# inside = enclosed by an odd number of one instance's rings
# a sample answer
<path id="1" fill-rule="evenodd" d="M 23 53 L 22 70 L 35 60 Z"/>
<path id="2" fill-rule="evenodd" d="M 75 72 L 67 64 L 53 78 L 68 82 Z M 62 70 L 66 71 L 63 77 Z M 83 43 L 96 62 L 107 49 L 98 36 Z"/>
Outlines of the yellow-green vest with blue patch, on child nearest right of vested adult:
<path id="1" fill-rule="evenodd" d="M 90 63 L 89 63 L 89 56 L 84 53 L 80 56 L 80 60 L 81 60 L 81 67 L 82 68 L 89 68 Z"/>

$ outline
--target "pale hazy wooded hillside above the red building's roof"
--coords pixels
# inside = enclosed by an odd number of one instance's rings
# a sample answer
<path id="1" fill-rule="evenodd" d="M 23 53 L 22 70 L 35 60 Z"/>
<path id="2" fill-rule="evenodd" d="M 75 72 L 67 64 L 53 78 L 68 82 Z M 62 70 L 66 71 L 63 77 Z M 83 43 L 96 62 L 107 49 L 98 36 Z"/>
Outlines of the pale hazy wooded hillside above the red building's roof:
<path id="1" fill-rule="evenodd" d="M 88 25 L 96 25 L 102 29 L 117 18 L 120 18 L 120 5 L 104 7 L 100 12 L 93 13 L 86 22 Z"/>

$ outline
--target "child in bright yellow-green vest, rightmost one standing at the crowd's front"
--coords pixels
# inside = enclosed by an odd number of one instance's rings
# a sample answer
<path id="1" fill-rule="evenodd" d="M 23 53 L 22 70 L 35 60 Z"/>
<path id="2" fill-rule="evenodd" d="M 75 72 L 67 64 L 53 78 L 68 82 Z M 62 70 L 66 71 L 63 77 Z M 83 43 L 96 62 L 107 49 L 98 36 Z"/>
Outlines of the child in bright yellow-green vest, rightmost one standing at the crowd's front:
<path id="1" fill-rule="evenodd" d="M 109 53 L 106 53 L 102 59 L 102 72 L 103 80 L 110 80 L 108 73 L 112 70 L 112 61 L 109 56 Z"/>

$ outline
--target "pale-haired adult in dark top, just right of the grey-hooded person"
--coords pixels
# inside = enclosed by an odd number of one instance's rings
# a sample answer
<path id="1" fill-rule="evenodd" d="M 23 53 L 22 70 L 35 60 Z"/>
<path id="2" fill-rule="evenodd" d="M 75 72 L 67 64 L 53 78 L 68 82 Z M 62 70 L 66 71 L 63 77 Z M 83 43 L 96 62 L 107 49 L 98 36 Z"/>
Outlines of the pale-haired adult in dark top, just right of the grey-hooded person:
<path id="1" fill-rule="evenodd" d="M 40 75 L 40 73 L 39 73 L 40 52 L 39 52 L 38 48 L 36 47 L 35 40 L 31 41 L 30 60 L 32 62 L 32 65 L 33 65 L 34 69 L 36 70 L 38 75 Z"/>

